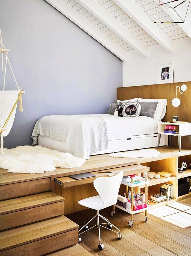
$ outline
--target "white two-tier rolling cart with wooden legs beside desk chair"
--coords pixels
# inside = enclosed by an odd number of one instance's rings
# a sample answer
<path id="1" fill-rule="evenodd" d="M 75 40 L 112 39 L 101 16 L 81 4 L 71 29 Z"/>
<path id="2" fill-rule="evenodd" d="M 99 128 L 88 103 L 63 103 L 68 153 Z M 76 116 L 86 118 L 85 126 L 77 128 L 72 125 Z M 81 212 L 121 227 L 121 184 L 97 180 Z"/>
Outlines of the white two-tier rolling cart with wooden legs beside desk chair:
<path id="1" fill-rule="evenodd" d="M 148 184 L 150 183 L 150 180 L 148 180 L 147 178 L 147 175 L 145 176 L 145 178 L 143 177 L 139 177 L 139 176 L 135 176 L 135 179 L 141 179 L 141 182 L 139 183 L 135 183 L 133 181 L 133 178 L 131 178 L 131 182 L 121 182 L 121 184 L 123 185 L 126 185 L 126 194 L 128 194 L 128 189 L 129 187 L 131 187 L 131 195 L 133 195 L 133 190 L 134 190 L 134 187 L 139 187 L 139 186 L 142 186 L 142 185 L 145 185 L 145 203 L 147 204 L 147 199 L 148 199 Z M 145 212 L 145 222 L 147 222 L 147 211 L 149 209 L 149 205 L 147 204 L 147 207 L 146 208 L 143 208 L 143 209 L 139 209 L 139 210 L 136 210 L 136 211 L 133 211 L 133 202 L 134 202 L 134 199 L 133 199 L 133 196 L 131 196 L 131 209 L 125 209 L 119 205 L 113 205 L 113 209 L 111 211 L 111 216 L 113 216 L 115 214 L 115 207 L 125 211 L 125 212 L 128 212 L 131 214 L 131 220 L 128 222 L 129 226 L 133 226 L 133 214 L 135 213 L 138 213 L 138 212 Z"/>

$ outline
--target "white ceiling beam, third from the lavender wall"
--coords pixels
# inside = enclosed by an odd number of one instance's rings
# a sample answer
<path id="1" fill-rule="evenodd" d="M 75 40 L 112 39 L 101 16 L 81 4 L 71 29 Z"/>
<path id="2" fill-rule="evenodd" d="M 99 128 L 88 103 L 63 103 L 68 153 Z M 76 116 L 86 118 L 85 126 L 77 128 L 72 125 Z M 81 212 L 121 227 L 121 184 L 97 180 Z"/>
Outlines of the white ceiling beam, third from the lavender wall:
<path id="1" fill-rule="evenodd" d="M 159 26 L 153 24 L 149 16 L 133 2 L 133 0 L 113 0 L 119 7 L 134 19 L 147 33 L 149 33 L 168 52 L 173 52 L 173 40 Z"/>

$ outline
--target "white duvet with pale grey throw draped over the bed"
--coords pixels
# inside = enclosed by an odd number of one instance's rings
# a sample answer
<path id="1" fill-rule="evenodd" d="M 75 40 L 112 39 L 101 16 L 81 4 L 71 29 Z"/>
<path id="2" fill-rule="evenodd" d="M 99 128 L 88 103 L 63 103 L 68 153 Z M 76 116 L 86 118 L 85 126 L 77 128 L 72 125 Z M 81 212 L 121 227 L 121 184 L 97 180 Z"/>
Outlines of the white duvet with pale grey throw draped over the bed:
<path id="1" fill-rule="evenodd" d="M 32 138 L 33 145 L 38 135 L 65 141 L 74 156 L 88 159 L 92 153 L 107 150 L 108 140 L 157 133 L 157 124 L 158 120 L 145 116 L 53 115 L 37 121 Z"/>

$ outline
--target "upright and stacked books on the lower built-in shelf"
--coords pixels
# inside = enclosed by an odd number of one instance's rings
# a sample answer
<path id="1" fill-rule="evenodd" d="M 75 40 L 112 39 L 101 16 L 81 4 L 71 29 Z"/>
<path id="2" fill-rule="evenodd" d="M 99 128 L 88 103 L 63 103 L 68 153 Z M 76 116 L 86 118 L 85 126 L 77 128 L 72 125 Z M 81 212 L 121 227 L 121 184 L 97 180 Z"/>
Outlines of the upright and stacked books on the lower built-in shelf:
<path id="1" fill-rule="evenodd" d="M 160 193 L 151 195 L 151 202 L 159 203 L 173 198 L 173 184 L 166 183 L 160 186 Z"/>

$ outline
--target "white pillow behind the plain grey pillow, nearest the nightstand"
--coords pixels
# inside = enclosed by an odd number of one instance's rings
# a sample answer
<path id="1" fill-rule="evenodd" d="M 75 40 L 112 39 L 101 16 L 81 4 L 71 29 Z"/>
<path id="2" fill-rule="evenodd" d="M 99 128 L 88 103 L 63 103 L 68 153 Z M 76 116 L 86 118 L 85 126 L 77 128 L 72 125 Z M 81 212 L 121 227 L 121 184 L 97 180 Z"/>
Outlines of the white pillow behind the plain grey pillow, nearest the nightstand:
<path id="1" fill-rule="evenodd" d="M 154 119 L 161 120 L 164 118 L 166 109 L 167 109 L 167 100 L 166 99 L 141 99 L 141 98 L 138 98 L 138 101 L 140 101 L 140 102 L 156 102 L 156 101 L 158 101 L 158 104 L 156 106 L 156 111 L 154 114 Z"/>

